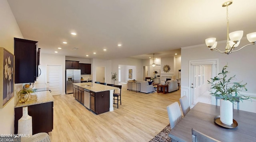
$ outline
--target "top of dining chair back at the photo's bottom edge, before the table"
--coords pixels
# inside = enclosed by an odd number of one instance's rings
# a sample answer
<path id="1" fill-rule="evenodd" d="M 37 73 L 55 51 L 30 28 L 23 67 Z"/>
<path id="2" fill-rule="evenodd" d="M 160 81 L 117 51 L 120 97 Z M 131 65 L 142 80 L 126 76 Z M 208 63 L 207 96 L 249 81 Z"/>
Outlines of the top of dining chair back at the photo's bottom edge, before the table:
<path id="1" fill-rule="evenodd" d="M 221 142 L 192 128 L 192 142 Z"/>

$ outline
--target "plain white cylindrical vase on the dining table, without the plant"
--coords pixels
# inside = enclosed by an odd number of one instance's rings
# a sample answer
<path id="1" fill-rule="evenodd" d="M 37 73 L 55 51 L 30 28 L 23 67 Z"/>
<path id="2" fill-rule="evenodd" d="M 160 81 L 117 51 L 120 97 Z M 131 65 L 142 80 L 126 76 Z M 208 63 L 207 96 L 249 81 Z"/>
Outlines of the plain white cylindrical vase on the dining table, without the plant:
<path id="1" fill-rule="evenodd" d="M 233 103 L 220 99 L 220 121 L 224 124 L 233 124 Z"/>

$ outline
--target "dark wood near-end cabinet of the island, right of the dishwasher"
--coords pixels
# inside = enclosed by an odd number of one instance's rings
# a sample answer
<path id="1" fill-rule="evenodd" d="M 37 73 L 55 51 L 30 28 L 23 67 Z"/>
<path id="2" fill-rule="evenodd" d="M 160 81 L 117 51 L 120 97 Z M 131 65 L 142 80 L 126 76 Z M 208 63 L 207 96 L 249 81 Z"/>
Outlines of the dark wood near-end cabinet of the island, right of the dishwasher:
<path id="1" fill-rule="evenodd" d="M 109 91 L 90 91 L 90 109 L 97 115 L 109 111 Z"/>

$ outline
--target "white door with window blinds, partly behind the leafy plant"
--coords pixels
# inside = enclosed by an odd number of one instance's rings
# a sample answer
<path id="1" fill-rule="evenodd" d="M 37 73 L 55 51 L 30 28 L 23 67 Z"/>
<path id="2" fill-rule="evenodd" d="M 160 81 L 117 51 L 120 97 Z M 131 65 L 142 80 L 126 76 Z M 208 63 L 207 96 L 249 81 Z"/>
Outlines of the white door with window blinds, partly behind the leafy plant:
<path id="1" fill-rule="evenodd" d="M 190 106 L 196 103 L 215 104 L 215 97 L 210 95 L 211 84 L 207 80 L 216 76 L 217 60 L 190 62 Z"/>

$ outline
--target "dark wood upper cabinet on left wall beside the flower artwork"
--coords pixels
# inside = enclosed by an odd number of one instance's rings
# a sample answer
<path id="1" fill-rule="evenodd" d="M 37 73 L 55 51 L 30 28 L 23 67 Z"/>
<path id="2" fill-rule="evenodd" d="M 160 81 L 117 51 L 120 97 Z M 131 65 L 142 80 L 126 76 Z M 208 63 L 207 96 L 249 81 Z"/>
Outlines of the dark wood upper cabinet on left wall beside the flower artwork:
<path id="1" fill-rule="evenodd" d="M 38 41 L 14 38 L 14 82 L 34 83 L 38 76 Z"/>

